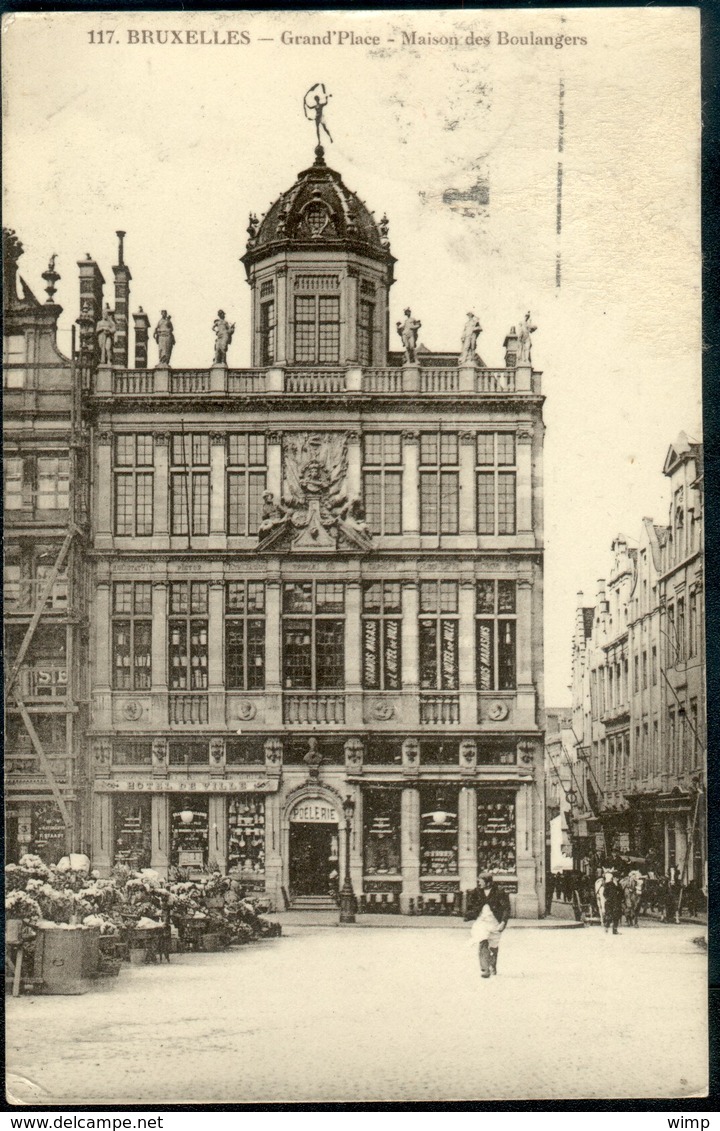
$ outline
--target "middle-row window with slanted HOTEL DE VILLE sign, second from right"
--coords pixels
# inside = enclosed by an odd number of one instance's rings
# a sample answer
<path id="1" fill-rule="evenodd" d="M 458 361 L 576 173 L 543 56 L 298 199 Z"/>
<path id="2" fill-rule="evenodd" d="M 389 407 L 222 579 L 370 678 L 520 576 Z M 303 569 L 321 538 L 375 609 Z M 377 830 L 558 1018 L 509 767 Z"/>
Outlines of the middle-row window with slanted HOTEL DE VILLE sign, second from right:
<path id="1" fill-rule="evenodd" d="M 420 690 L 458 690 L 458 582 L 423 581 L 419 616 Z"/>

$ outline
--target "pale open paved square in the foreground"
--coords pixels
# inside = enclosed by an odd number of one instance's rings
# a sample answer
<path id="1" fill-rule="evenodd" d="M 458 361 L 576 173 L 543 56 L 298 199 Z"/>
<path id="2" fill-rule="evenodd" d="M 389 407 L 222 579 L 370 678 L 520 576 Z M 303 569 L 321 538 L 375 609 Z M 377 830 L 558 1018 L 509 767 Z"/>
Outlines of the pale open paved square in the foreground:
<path id="1" fill-rule="evenodd" d="M 287 926 L 7 1002 L 20 1104 L 680 1097 L 705 1089 L 697 925 L 505 933 Z"/>

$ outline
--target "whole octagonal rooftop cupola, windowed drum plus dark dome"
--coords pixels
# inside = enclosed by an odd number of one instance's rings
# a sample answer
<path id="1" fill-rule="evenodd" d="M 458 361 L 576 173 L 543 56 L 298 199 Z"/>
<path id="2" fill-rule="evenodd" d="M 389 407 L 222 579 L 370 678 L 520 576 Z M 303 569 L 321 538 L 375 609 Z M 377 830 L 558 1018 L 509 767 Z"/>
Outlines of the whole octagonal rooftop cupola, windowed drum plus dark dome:
<path id="1" fill-rule="evenodd" d="M 388 219 L 326 165 L 322 146 L 248 234 L 253 365 L 385 364 Z"/>

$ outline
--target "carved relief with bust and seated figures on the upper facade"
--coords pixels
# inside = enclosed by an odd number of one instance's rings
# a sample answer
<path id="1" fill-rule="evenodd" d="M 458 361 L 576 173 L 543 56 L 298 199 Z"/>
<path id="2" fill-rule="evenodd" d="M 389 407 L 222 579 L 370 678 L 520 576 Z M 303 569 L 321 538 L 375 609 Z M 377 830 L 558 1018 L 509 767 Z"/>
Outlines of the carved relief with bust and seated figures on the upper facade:
<path id="1" fill-rule="evenodd" d="M 347 434 L 290 432 L 283 438 L 283 495 L 266 491 L 259 550 L 367 551 L 359 498 L 347 493 Z"/>

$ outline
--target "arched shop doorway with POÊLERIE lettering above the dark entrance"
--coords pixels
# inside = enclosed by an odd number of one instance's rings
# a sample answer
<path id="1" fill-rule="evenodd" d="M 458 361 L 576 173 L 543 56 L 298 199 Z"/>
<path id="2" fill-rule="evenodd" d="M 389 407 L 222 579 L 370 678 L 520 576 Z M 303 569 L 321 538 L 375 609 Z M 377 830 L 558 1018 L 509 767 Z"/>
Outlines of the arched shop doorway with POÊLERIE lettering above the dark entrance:
<path id="1" fill-rule="evenodd" d="M 289 889 L 296 896 L 337 896 L 339 888 L 339 818 L 332 801 L 302 797 L 288 813 Z"/>

